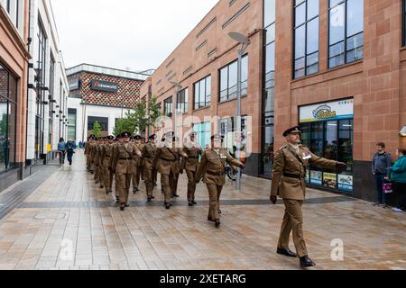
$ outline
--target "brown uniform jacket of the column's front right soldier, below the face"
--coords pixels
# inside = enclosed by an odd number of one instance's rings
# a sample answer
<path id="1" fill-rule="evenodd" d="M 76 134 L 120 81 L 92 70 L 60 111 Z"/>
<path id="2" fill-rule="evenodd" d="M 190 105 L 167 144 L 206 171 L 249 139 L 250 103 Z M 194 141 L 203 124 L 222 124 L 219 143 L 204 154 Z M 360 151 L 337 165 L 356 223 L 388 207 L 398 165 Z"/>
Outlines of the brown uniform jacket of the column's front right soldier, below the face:
<path id="1" fill-rule="evenodd" d="M 218 153 L 211 148 L 203 152 L 196 180 L 200 180 L 203 175 L 203 181 L 206 184 L 224 185 L 226 184 L 225 166 L 226 162 L 233 166 L 243 166 L 243 163 L 231 157 L 225 148 L 220 148 Z"/>

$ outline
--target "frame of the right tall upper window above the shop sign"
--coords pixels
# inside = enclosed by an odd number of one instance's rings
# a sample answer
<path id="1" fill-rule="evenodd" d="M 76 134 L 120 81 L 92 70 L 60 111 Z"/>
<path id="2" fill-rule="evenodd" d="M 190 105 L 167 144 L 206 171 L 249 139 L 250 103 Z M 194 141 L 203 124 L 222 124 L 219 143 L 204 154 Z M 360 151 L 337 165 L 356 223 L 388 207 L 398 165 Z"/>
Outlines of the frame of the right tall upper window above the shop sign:
<path id="1" fill-rule="evenodd" d="M 362 1 L 363 1 L 363 11 L 364 11 L 364 0 L 362 0 Z M 364 50 L 364 17 L 363 17 L 363 31 L 360 31 L 360 32 L 355 33 L 355 34 L 348 37 L 348 34 L 347 34 L 347 27 L 348 27 L 348 25 L 347 25 L 347 20 L 348 20 L 348 17 L 347 17 L 347 14 L 348 14 L 348 0 L 340 0 L 334 6 L 331 6 L 330 4 L 331 4 L 331 0 L 328 0 L 328 69 L 334 69 L 334 68 L 337 68 L 337 67 L 342 67 L 342 66 L 347 65 L 347 64 L 355 63 L 357 61 L 362 61 L 364 59 L 364 52 L 363 52 L 363 58 L 355 59 L 354 61 L 347 61 L 346 57 L 347 57 L 347 52 L 348 52 L 347 51 L 347 42 L 348 42 L 348 40 L 350 38 L 353 38 L 353 37 L 355 37 L 357 35 L 363 34 L 362 48 Z M 344 11 L 344 17 L 345 17 L 345 19 L 344 19 L 344 40 L 337 41 L 336 43 L 331 44 L 330 43 L 330 34 L 331 34 L 331 31 L 330 31 L 330 14 L 331 13 L 330 12 L 331 12 L 332 9 L 335 9 L 337 6 L 339 6 L 341 4 L 345 4 L 345 11 Z M 337 45 L 339 43 L 342 43 L 342 42 L 344 42 L 344 63 L 336 65 L 336 66 L 331 66 L 330 65 L 330 59 L 331 59 L 330 58 L 330 49 L 331 49 L 331 47 L 333 47 L 333 46 L 335 46 L 335 45 Z"/>

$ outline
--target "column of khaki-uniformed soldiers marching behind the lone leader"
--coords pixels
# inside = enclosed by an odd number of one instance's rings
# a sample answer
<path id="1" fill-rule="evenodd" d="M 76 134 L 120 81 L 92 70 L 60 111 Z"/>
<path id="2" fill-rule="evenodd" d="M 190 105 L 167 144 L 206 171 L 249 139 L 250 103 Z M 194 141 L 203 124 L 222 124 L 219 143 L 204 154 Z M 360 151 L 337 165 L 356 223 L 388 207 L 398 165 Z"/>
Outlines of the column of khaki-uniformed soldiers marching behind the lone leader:
<path id="1" fill-rule="evenodd" d="M 139 184 L 143 179 L 148 202 L 152 202 L 154 186 L 157 186 L 157 173 L 161 174 L 161 192 L 164 194 L 164 206 L 171 208 L 171 198 L 179 197 L 178 180 L 180 174 L 186 171 L 188 176 L 189 206 L 195 202 L 196 185 L 203 178 L 208 186 L 209 209 L 208 220 L 220 225 L 219 199 L 226 183 L 225 165 L 244 168 L 244 164 L 231 157 L 226 148 L 222 148 L 223 138 L 220 135 L 211 137 L 211 148 L 205 151 L 196 143 L 196 134 L 190 133 L 183 148 L 180 148 L 179 138 L 174 132 L 167 132 L 158 141 L 153 134 L 148 142 L 140 135 L 124 132 L 105 138 L 91 135 L 85 146 L 88 172 L 94 174 L 96 184 L 106 190 L 106 194 L 113 193 L 115 180 L 115 199 L 124 211 L 129 207 L 128 197 L 131 183 L 133 193 L 139 191 Z"/>

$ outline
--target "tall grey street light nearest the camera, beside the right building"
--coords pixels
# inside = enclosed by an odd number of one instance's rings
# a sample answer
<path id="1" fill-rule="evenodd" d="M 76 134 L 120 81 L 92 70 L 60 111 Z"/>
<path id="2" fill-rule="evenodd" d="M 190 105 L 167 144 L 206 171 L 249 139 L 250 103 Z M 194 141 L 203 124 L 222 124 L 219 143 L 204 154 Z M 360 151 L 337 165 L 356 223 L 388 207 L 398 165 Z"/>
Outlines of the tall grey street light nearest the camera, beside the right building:
<path id="1" fill-rule="evenodd" d="M 228 36 L 230 36 L 231 39 L 237 41 L 238 43 L 241 44 L 241 48 L 238 49 L 238 61 L 237 61 L 237 127 L 236 130 L 238 131 L 238 135 L 240 137 L 240 140 L 236 142 L 236 155 L 238 159 L 240 158 L 241 154 L 241 141 L 243 140 L 243 133 L 241 131 L 241 72 L 242 72 L 242 59 L 243 55 L 245 53 L 245 50 L 248 48 L 248 45 L 251 44 L 251 41 L 246 37 L 244 34 L 241 34 L 239 32 L 229 32 Z M 241 168 L 238 168 L 238 173 L 236 177 L 236 189 L 241 190 Z"/>

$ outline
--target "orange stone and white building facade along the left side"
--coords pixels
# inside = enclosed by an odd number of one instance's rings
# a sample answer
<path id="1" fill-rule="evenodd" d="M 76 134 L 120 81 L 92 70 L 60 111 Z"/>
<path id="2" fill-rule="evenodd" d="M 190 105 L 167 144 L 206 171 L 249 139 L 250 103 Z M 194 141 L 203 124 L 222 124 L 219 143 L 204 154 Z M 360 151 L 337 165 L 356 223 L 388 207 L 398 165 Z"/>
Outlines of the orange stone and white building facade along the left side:
<path id="1" fill-rule="evenodd" d="M 1 191 L 55 157 L 68 81 L 50 0 L 0 1 L 0 19 Z"/>

